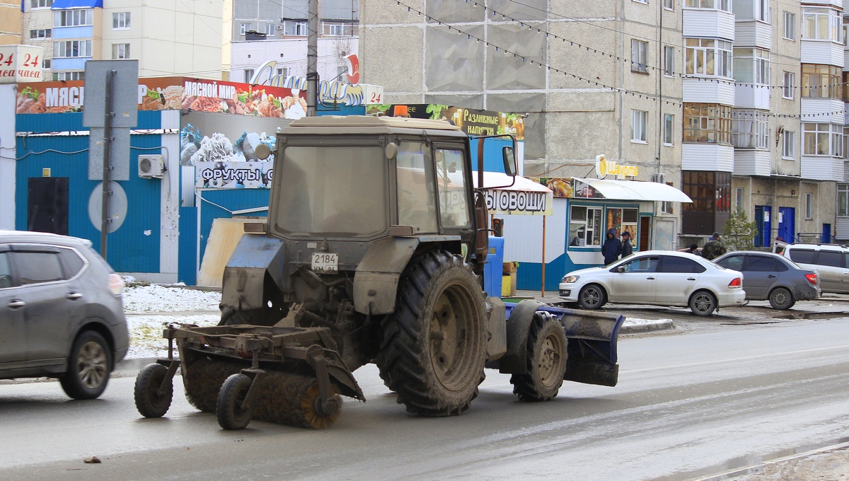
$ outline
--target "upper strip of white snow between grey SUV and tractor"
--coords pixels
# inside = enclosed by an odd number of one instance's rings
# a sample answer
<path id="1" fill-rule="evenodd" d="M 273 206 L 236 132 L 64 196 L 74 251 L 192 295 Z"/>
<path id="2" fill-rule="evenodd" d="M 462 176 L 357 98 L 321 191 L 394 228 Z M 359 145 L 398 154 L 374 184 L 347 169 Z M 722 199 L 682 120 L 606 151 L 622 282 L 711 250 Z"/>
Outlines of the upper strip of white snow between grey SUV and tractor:
<path id="1" fill-rule="evenodd" d="M 215 310 L 221 302 L 220 292 L 160 285 L 124 288 L 124 312 L 175 312 L 180 310 Z"/>

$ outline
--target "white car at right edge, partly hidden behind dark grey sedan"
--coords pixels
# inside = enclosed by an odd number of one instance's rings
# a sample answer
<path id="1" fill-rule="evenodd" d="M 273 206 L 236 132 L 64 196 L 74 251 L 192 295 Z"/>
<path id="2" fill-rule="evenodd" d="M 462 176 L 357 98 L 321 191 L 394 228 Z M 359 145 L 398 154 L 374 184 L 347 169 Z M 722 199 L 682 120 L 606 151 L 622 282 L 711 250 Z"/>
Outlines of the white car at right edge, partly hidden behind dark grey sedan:
<path id="1" fill-rule="evenodd" d="M 781 255 L 819 273 L 824 293 L 849 294 L 849 249 L 838 244 L 789 243 Z"/>

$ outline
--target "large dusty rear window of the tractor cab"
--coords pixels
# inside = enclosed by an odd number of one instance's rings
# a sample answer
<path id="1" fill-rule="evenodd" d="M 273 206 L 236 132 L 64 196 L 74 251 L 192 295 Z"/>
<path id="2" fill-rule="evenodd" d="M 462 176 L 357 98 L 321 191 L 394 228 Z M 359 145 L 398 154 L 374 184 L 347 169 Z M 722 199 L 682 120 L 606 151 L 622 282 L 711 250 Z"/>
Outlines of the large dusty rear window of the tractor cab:
<path id="1" fill-rule="evenodd" d="M 384 232 L 385 165 L 378 146 L 285 148 L 273 173 L 275 230 L 354 237 Z"/>

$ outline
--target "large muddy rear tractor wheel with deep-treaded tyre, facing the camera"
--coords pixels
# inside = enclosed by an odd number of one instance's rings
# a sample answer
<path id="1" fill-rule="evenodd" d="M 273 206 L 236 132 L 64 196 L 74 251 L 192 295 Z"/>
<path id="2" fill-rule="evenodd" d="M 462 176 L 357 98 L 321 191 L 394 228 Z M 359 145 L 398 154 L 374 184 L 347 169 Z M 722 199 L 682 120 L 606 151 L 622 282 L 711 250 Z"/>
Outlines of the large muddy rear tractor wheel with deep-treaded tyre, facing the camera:
<path id="1" fill-rule="evenodd" d="M 435 251 L 414 260 L 383 328 L 376 361 L 399 404 L 425 416 L 469 409 L 484 379 L 486 311 L 481 285 L 460 257 Z"/>

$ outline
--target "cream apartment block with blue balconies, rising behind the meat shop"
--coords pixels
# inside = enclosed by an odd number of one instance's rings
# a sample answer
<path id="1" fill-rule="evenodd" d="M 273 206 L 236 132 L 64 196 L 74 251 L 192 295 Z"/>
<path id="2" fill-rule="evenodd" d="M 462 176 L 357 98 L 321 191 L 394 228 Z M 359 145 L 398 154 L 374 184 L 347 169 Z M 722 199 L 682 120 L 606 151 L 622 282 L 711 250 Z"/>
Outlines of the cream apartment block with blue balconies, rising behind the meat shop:
<path id="1" fill-rule="evenodd" d="M 25 0 L 24 43 L 42 80 L 82 80 L 87 60 L 138 59 L 139 76 L 221 77 L 222 10 L 199 0 Z"/>

